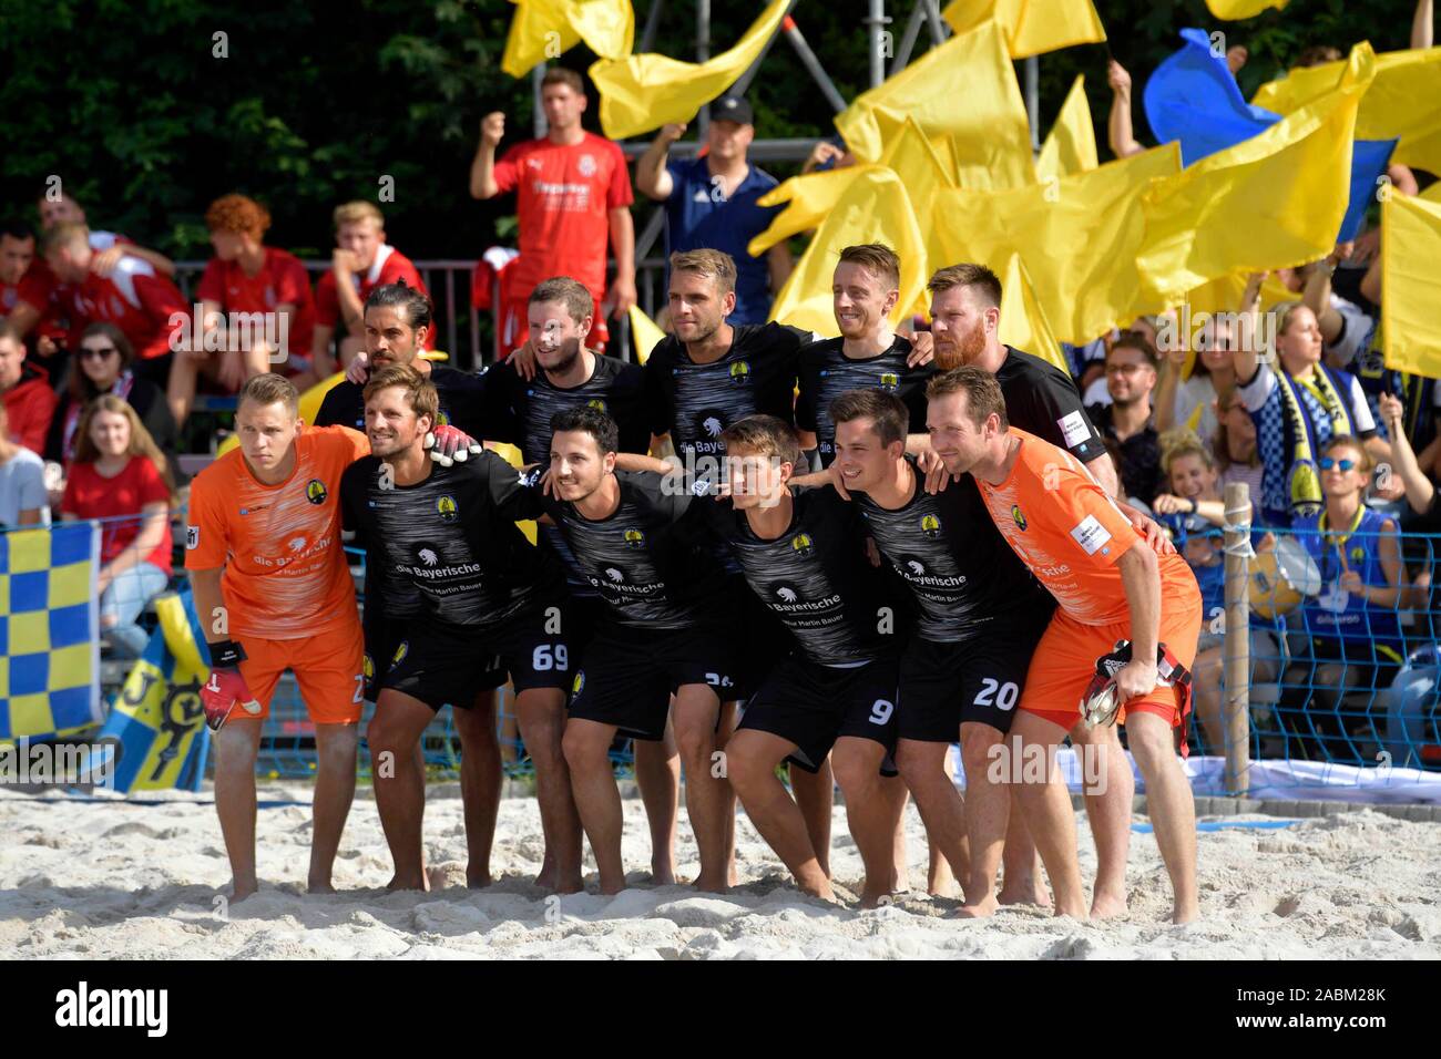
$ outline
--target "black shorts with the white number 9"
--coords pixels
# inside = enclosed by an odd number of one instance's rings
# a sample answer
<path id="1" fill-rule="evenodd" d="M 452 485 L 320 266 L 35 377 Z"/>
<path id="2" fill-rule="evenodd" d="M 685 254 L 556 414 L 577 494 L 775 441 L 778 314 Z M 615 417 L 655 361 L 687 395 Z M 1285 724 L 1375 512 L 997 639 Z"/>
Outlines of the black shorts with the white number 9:
<path id="1" fill-rule="evenodd" d="M 843 735 L 880 743 L 889 761 L 896 748 L 898 676 L 895 658 L 837 669 L 791 656 L 751 696 L 738 728 L 769 732 L 795 743 L 787 761 L 807 772 L 820 769 Z M 895 775 L 893 769 L 882 772 Z"/>

